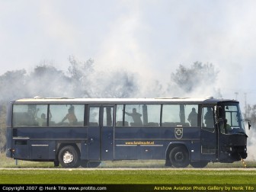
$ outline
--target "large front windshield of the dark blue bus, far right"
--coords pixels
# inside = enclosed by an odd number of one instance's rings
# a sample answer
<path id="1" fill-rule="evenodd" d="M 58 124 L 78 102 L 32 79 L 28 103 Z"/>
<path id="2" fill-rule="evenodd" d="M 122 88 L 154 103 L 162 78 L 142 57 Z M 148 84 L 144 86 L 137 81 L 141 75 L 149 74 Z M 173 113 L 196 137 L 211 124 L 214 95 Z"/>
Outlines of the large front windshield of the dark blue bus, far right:
<path id="1" fill-rule="evenodd" d="M 223 134 L 245 134 L 242 113 L 237 103 L 222 104 L 223 123 L 220 125 Z"/>

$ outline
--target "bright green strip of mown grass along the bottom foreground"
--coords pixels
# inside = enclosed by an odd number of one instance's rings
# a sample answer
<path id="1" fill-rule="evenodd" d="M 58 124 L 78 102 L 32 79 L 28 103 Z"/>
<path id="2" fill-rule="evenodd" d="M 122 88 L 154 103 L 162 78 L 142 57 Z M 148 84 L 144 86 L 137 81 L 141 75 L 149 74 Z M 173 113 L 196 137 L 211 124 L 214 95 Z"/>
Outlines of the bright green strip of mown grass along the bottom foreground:
<path id="1" fill-rule="evenodd" d="M 254 184 L 256 171 L 0 170 L 0 184 Z"/>

